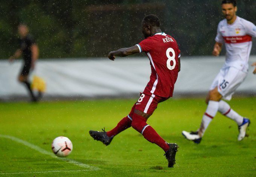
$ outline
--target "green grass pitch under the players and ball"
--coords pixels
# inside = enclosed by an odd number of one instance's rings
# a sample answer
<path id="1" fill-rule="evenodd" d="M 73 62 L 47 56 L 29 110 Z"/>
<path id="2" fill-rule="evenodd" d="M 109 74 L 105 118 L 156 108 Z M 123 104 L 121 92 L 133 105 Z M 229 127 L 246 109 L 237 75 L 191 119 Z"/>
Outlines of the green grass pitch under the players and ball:
<path id="1" fill-rule="evenodd" d="M 238 142 L 236 123 L 218 113 L 199 145 L 184 139 L 181 131 L 198 128 L 206 109 L 204 100 L 170 99 L 159 104 L 148 124 L 166 141 L 180 146 L 174 168 L 167 168 L 162 149 L 132 128 L 117 135 L 109 146 L 90 137 L 91 129 L 116 126 L 135 101 L 0 103 L 0 177 L 255 176 L 256 98 L 235 98 L 229 103 L 250 118 L 248 137 Z M 69 159 L 51 155 L 51 142 L 57 136 L 67 136 L 73 142 Z M 32 145 L 49 154 L 34 150 Z M 89 167 L 72 164 L 71 159 Z"/>

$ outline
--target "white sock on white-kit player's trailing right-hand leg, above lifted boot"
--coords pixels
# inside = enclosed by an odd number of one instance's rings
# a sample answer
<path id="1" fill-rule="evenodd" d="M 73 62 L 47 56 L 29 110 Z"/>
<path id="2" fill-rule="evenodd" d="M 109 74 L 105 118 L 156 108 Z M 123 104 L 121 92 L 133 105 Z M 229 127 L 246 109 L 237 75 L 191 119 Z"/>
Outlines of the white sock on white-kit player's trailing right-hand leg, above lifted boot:
<path id="1" fill-rule="evenodd" d="M 221 114 L 225 115 L 226 117 L 236 121 L 238 125 L 241 125 L 243 123 L 244 117 L 236 113 L 236 111 L 232 110 L 227 104 L 227 102 L 221 100 L 219 101 L 219 110 Z"/>

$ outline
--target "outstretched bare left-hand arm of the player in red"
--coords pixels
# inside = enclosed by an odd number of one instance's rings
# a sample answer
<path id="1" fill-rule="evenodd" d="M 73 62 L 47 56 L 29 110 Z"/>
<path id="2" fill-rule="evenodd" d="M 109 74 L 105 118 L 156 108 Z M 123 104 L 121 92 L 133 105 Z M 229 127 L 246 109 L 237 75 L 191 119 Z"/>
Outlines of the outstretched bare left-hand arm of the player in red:
<path id="1" fill-rule="evenodd" d="M 114 61 L 114 59 L 116 59 L 116 56 L 126 57 L 128 55 L 136 54 L 136 53 L 139 53 L 139 52 L 140 52 L 139 47 L 137 45 L 134 45 L 134 46 L 129 47 L 129 48 L 120 48 L 118 50 L 111 51 L 111 52 L 108 53 L 108 58 L 110 60 Z"/>

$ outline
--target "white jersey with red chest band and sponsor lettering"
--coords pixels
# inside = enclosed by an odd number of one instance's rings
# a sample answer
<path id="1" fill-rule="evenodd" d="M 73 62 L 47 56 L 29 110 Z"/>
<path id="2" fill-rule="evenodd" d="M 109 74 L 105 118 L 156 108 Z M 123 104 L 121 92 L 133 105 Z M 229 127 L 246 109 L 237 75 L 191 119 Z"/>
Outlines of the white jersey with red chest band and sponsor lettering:
<path id="1" fill-rule="evenodd" d="M 236 20 L 232 24 L 228 24 L 227 19 L 219 22 L 215 41 L 225 42 L 224 67 L 233 66 L 247 71 L 252 46 L 251 37 L 256 37 L 256 26 L 250 21 L 236 16 Z"/>

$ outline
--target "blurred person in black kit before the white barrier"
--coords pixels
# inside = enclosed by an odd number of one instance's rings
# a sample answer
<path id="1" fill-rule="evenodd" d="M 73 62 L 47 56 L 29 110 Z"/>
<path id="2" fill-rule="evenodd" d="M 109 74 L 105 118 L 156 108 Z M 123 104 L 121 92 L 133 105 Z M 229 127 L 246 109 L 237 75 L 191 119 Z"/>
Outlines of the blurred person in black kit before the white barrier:
<path id="1" fill-rule="evenodd" d="M 13 62 L 15 58 L 18 58 L 21 54 L 23 54 L 24 66 L 20 75 L 18 76 L 18 81 L 25 84 L 27 90 L 30 93 L 32 102 L 36 102 L 41 96 L 41 93 L 39 92 L 38 96 L 35 96 L 33 90 L 31 89 L 31 83 L 28 80 L 28 75 L 30 70 L 35 68 L 35 62 L 39 53 L 38 46 L 35 43 L 34 37 L 29 34 L 29 29 L 26 25 L 20 24 L 18 26 L 18 34 L 20 36 L 20 48 L 15 51 L 14 55 L 11 56 L 9 60 L 10 62 Z"/>

